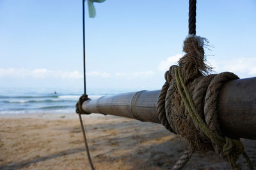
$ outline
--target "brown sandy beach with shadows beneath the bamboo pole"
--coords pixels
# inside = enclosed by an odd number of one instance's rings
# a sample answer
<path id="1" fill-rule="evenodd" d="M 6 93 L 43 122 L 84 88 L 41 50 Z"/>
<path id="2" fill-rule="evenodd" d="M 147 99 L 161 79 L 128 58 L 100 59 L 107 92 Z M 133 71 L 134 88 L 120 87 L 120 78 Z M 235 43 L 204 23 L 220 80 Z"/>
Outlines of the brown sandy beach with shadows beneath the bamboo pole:
<path id="1" fill-rule="evenodd" d="M 186 145 L 163 125 L 103 115 L 83 116 L 95 169 L 171 169 Z M 256 141 L 241 139 L 256 167 Z M 243 157 L 239 164 L 248 169 Z M 0 115 L 0 169 L 90 169 L 74 114 Z M 213 153 L 184 169 L 230 169 Z"/>

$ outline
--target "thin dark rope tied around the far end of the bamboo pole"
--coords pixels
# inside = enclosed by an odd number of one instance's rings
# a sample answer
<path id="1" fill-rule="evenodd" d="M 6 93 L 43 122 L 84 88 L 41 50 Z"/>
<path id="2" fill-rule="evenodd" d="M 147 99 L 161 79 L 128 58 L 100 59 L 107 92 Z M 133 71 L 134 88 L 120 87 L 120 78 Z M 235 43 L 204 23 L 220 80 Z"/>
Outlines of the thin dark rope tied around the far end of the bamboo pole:
<path id="1" fill-rule="evenodd" d="M 84 64 L 84 94 L 83 96 L 80 97 L 79 99 L 79 106 L 81 107 L 81 104 L 88 100 L 88 97 L 86 95 L 86 65 L 85 65 L 85 35 L 84 35 L 84 0 L 83 1 L 83 64 Z M 79 109 L 81 110 L 81 108 Z M 81 117 L 81 111 L 79 110 L 76 110 L 76 112 L 78 113 L 79 115 L 79 120 L 80 120 L 80 124 L 81 124 L 81 130 L 83 132 L 83 137 L 84 137 L 84 145 L 85 145 L 85 148 L 86 148 L 86 153 L 87 153 L 87 157 L 88 157 L 88 161 L 90 163 L 90 166 L 91 166 L 91 169 L 94 170 L 94 167 L 93 167 L 93 163 L 92 163 L 92 159 L 91 159 L 91 155 L 90 155 L 90 151 L 89 151 L 89 147 L 88 147 L 88 142 L 87 142 L 87 139 L 86 139 L 86 135 L 85 135 L 85 131 L 84 131 L 84 125 L 83 125 L 83 120 L 82 120 L 82 117 Z"/>

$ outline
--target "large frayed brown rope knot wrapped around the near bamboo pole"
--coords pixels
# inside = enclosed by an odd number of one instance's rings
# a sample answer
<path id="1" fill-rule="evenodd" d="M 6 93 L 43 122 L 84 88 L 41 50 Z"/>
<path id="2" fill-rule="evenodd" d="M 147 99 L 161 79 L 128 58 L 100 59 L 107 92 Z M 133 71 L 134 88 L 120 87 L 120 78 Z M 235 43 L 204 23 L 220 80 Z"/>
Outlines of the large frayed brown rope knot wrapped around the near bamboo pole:
<path id="1" fill-rule="evenodd" d="M 221 86 L 238 77 L 229 72 L 209 74 L 211 67 L 205 64 L 204 41 L 207 40 L 189 35 L 183 47 L 186 54 L 179 60 L 179 66 L 171 66 L 164 74 L 166 82 L 157 103 L 159 120 L 166 129 L 189 143 L 188 150 L 173 169 L 181 169 L 194 152 L 209 150 L 227 158 L 233 169 L 239 169 L 236 160 L 243 154 L 253 169 L 241 141 L 221 136 L 218 124 Z"/>

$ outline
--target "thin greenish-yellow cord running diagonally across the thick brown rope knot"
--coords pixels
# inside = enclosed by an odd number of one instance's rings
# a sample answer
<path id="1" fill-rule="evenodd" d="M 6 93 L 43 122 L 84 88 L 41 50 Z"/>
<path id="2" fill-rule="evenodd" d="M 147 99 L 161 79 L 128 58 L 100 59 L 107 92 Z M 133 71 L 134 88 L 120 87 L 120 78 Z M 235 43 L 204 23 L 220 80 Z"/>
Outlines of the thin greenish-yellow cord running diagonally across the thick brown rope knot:
<path id="1" fill-rule="evenodd" d="M 241 143 L 241 141 L 236 139 L 230 139 L 227 137 L 224 138 L 223 136 L 220 136 L 219 134 L 212 132 L 212 130 L 205 124 L 204 120 L 202 120 L 202 118 L 196 111 L 195 104 L 191 99 L 188 89 L 186 88 L 186 85 L 181 76 L 179 66 L 175 66 L 174 71 L 180 97 L 183 103 L 185 104 L 186 109 L 188 110 L 189 116 L 193 119 L 193 122 L 204 132 L 204 134 L 209 139 L 211 139 L 218 145 L 222 146 L 223 155 L 227 157 L 228 162 L 230 163 L 230 166 L 233 169 L 240 168 L 236 164 L 236 160 L 240 154 L 243 154 L 244 159 L 246 159 L 246 162 L 248 163 L 248 166 L 250 167 L 250 169 L 253 169 L 252 162 L 248 155 L 246 154 L 246 152 L 244 152 L 244 146 L 243 143 Z M 184 90 L 184 92 L 182 91 L 182 89 Z"/>

